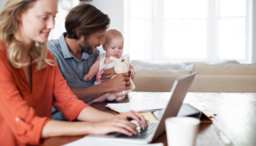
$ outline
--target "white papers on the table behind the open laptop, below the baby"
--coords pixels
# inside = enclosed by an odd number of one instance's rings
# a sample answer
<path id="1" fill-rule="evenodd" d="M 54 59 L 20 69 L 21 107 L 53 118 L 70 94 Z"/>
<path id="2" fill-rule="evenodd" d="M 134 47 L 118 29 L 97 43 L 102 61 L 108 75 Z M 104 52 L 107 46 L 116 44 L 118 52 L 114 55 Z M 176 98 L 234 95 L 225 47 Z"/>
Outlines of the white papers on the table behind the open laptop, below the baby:
<path id="1" fill-rule="evenodd" d="M 107 107 L 112 108 L 114 111 L 119 111 L 119 113 L 124 113 L 131 110 L 137 112 L 146 112 L 166 108 L 167 103 L 168 100 L 165 99 L 153 99 L 129 103 L 107 103 Z"/>

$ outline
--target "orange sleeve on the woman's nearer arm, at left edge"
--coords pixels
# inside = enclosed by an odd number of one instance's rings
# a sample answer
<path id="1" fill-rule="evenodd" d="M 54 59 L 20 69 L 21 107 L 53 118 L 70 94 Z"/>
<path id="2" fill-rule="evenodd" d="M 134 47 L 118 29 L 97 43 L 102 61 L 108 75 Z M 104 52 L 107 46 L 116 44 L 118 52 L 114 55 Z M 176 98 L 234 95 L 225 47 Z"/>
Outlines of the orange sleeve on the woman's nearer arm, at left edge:
<path id="1" fill-rule="evenodd" d="M 6 129 L 2 126 L 7 123 L 18 141 L 38 145 L 43 126 L 50 118 L 36 116 L 35 110 L 28 106 L 24 99 L 30 96 L 21 96 L 21 91 L 17 89 L 16 79 L 13 76 L 14 73 L 4 55 L 2 53 L 0 55 L 0 129 Z M 0 133 L 4 135 L 9 132 L 1 131 Z M 11 135 L 6 135 L 5 139 L 6 141 L 12 140 Z"/>

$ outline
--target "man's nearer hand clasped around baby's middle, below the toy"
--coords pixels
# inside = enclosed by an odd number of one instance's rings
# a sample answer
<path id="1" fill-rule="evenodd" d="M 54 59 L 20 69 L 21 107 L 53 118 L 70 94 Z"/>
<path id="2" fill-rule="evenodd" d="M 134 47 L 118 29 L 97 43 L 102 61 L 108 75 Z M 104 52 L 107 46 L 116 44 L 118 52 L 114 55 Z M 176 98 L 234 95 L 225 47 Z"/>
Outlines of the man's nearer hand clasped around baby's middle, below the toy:
<path id="1" fill-rule="evenodd" d="M 111 87 L 112 93 L 129 90 L 131 83 L 129 82 L 129 74 L 123 73 L 123 74 L 117 74 L 113 79 L 110 79 L 109 81 L 105 82 L 104 84 L 107 84 L 107 86 Z"/>

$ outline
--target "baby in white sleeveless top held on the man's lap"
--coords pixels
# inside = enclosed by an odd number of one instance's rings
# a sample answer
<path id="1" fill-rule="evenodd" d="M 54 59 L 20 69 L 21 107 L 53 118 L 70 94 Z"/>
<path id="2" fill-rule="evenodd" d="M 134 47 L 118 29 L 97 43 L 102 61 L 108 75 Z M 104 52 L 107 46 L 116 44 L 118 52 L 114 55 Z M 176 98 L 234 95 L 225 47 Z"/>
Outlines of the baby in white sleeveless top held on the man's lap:
<path id="1" fill-rule="evenodd" d="M 124 56 L 122 55 L 123 45 L 124 37 L 122 33 L 115 29 L 107 30 L 105 35 L 105 44 L 102 45 L 106 52 L 100 52 L 100 55 L 97 57 L 95 63 L 92 64 L 92 67 L 90 67 L 88 74 L 85 74 L 84 81 L 90 81 L 92 77 L 95 77 L 96 75 L 95 84 L 100 84 L 103 82 L 100 80 L 100 75 L 102 72 L 104 72 L 103 69 L 110 69 L 115 66 L 115 62 L 110 60 L 110 57 L 112 56 L 118 58 L 121 61 L 124 60 Z M 134 79 L 135 69 L 131 64 L 129 65 L 129 72 L 131 79 Z M 118 96 L 122 93 L 118 92 L 115 94 Z M 104 98 L 105 95 L 98 99 L 102 99 L 102 101 L 104 101 Z M 97 101 L 97 99 L 95 99 L 95 101 Z"/>

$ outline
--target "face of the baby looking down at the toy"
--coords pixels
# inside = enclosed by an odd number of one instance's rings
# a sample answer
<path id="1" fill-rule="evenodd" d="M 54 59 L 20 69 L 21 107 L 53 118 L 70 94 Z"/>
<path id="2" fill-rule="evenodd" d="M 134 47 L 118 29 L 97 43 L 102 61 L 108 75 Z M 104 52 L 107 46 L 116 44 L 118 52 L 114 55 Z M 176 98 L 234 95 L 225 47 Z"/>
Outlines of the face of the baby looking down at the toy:
<path id="1" fill-rule="evenodd" d="M 122 56 L 123 51 L 123 45 L 124 45 L 124 38 L 117 37 L 112 38 L 109 43 L 105 45 L 105 51 L 107 54 L 107 57 L 116 57 L 119 58 Z"/>

